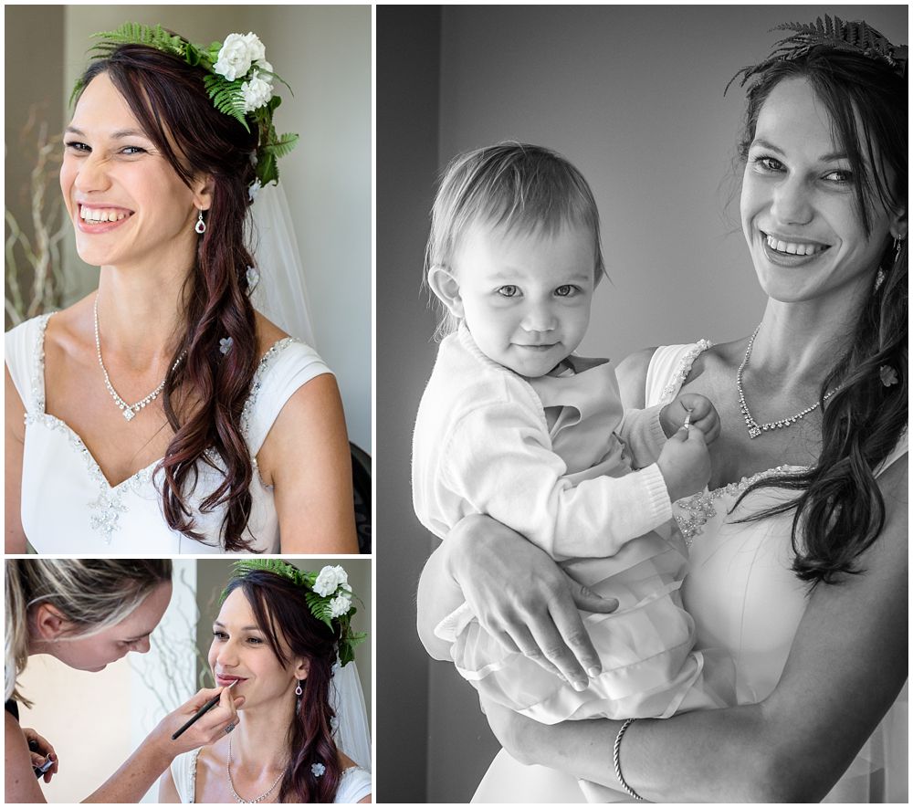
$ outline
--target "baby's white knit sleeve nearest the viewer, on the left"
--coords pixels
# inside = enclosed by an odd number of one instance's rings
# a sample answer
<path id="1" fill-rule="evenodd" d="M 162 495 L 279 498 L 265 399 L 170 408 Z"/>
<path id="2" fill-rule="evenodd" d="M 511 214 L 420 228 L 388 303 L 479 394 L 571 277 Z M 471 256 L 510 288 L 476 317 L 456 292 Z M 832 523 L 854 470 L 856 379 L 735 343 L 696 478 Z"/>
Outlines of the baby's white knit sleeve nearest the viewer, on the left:
<path id="1" fill-rule="evenodd" d="M 656 465 L 574 486 L 542 426 L 537 414 L 517 402 L 477 407 L 450 435 L 442 481 L 473 509 L 558 561 L 614 555 L 671 519 Z"/>

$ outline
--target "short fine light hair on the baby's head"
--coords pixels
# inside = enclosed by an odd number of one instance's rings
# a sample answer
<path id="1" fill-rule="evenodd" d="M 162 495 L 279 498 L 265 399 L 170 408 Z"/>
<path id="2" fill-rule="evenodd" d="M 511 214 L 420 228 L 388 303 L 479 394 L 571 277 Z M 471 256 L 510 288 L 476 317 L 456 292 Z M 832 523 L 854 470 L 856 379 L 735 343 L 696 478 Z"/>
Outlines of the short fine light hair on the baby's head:
<path id="1" fill-rule="evenodd" d="M 561 154 L 542 146 L 502 142 L 458 154 L 446 167 L 425 249 L 425 280 L 433 268 L 453 271 L 459 240 L 477 223 L 510 233 L 551 236 L 565 226 L 593 234 L 593 278 L 605 272 L 599 211 L 589 184 Z M 458 320 L 441 306 L 436 336 L 456 331 Z"/>

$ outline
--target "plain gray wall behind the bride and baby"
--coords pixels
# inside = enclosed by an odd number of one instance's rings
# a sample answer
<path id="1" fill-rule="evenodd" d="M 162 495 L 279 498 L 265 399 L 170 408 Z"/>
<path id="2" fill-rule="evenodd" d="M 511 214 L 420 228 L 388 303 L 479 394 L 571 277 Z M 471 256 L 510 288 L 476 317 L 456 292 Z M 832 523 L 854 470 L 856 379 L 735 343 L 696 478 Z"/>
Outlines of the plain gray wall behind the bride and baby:
<path id="1" fill-rule="evenodd" d="M 596 292 L 582 352 L 619 360 L 647 345 L 735 339 L 760 320 L 764 298 L 740 235 L 732 165 L 743 95 L 736 86 L 724 98 L 723 88 L 767 55 L 780 38 L 772 26 L 828 12 L 907 40 L 906 6 L 446 6 L 435 94 L 416 86 L 431 81 L 427 39 L 419 59 L 402 31 L 385 28 L 402 13 L 378 9 L 379 59 L 401 48 L 399 73 L 378 69 L 378 683 L 390 700 L 378 720 L 383 740 L 404 750 L 397 779 L 409 778 L 382 781 L 381 799 L 466 801 L 494 748 L 472 691 L 448 666 L 425 662 L 427 686 L 416 690 L 421 652 L 402 611 L 401 590 L 414 588 L 416 556 L 429 547 L 408 484 L 410 429 L 435 355 L 419 291 L 434 192 L 427 121 L 439 124 L 438 169 L 456 152 L 513 139 L 563 152 L 590 181 L 611 282 Z M 382 100 L 400 114 L 382 115 Z M 403 765 L 422 760 L 423 739 L 424 782 Z"/>

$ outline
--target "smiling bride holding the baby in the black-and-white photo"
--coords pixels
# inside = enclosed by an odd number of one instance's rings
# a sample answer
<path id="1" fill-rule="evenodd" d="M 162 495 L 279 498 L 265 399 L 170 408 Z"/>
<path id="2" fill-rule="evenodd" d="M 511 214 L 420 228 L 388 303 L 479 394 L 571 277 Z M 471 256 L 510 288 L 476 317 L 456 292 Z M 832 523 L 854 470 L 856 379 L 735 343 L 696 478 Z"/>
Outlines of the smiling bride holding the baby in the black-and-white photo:
<path id="1" fill-rule="evenodd" d="M 553 726 L 484 704 L 504 750 L 477 802 L 583 802 L 578 781 L 597 802 L 908 802 L 907 48 L 818 28 L 742 71 L 761 324 L 619 366 L 630 406 L 681 390 L 718 406 L 710 488 L 673 512 L 698 647 L 730 652 L 737 704 Z M 610 611 L 474 516 L 425 566 L 419 628 L 449 658 L 434 626 L 465 598 L 505 645 L 585 681 L 599 657 L 572 594 Z"/>

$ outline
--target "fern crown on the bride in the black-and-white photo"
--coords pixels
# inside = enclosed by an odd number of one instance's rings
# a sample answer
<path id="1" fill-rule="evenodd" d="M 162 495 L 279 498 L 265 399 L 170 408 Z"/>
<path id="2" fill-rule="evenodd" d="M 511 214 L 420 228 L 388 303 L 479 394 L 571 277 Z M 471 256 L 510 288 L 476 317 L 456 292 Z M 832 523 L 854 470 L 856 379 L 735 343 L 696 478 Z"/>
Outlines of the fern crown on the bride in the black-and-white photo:
<path id="1" fill-rule="evenodd" d="M 897 73 L 901 79 L 907 76 L 907 46 L 892 45 L 886 37 L 863 20 L 844 22 L 838 16 L 834 16 L 832 20 L 829 16 L 824 15 L 824 21 L 819 16 L 813 23 L 782 23 L 782 25 L 771 28 L 771 31 L 795 31 L 795 33 L 792 37 L 786 37 L 777 42 L 771 55 L 760 64 L 741 68 L 735 76 L 729 79 L 726 89 L 729 89 L 729 85 L 739 77 L 741 77 L 739 86 L 744 87 L 752 76 L 763 73 L 772 64 L 802 58 L 814 47 L 827 47 L 832 50 L 856 53 L 882 62 Z"/>

